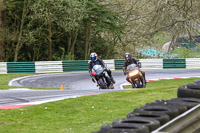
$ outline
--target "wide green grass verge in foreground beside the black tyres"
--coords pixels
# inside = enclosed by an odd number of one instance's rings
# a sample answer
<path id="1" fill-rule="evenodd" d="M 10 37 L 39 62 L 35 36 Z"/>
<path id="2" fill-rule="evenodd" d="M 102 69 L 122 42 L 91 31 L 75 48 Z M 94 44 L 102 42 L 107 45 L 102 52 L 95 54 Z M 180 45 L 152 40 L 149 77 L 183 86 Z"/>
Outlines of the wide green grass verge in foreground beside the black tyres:
<path id="1" fill-rule="evenodd" d="M 0 110 L 1 133 L 89 133 L 124 118 L 135 108 L 171 99 L 177 88 L 195 79 L 149 82 L 145 89 L 66 99 L 20 109 Z"/>

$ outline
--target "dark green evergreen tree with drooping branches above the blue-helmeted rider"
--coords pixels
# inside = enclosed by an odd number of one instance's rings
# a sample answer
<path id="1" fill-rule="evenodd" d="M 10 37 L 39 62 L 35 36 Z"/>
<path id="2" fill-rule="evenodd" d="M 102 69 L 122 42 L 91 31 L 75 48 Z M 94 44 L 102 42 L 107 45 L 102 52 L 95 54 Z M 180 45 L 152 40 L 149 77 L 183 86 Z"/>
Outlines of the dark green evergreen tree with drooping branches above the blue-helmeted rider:
<path id="1" fill-rule="evenodd" d="M 104 3 L 102 0 L 88 0 L 86 5 L 88 9 L 88 17 L 84 19 L 85 60 L 88 59 L 88 55 L 92 49 L 92 35 L 94 37 L 98 36 L 99 38 L 105 39 L 106 37 L 108 37 L 105 36 L 106 33 L 112 33 L 109 34 L 109 40 L 112 40 L 113 37 L 116 39 L 115 35 L 119 36 L 120 32 L 123 30 L 123 26 L 121 25 L 121 17 L 115 12 L 109 10 L 110 4 Z"/>

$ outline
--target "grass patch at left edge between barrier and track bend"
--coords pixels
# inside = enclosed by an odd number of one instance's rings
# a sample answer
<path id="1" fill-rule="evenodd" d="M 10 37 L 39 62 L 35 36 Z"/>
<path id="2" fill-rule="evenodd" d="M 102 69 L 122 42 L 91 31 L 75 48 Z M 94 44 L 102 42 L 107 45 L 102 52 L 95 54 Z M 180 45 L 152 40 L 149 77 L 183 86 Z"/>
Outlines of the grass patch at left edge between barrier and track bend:
<path id="1" fill-rule="evenodd" d="M 30 75 L 38 75 L 35 73 L 16 73 L 16 74 L 0 74 L 0 90 L 7 90 L 7 89 L 12 89 L 12 88 L 28 88 L 28 89 L 48 89 L 48 90 L 56 90 L 60 88 L 36 88 L 36 87 L 16 87 L 16 86 L 8 86 L 8 83 L 10 80 L 19 78 L 19 77 L 24 77 L 24 76 L 30 76 Z M 69 88 L 64 88 L 65 90 L 69 90 Z"/>

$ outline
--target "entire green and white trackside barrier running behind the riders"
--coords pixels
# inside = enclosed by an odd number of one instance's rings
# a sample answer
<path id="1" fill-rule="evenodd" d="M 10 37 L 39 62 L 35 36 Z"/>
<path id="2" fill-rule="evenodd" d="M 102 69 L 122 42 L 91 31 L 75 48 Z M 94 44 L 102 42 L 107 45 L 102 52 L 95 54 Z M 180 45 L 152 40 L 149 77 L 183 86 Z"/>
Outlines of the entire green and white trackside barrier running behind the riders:
<path id="1" fill-rule="evenodd" d="M 108 69 L 122 70 L 124 59 L 103 60 Z M 139 59 L 142 69 L 199 69 L 200 59 Z M 88 71 L 89 60 L 0 62 L 0 74 Z"/>

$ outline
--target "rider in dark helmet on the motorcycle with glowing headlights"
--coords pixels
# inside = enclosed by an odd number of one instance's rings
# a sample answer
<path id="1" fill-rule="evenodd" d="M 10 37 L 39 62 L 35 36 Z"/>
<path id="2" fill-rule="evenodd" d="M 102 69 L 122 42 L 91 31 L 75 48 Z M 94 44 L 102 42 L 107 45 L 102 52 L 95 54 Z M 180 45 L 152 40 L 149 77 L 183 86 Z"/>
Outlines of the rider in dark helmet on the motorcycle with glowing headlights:
<path id="1" fill-rule="evenodd" d="M 140 62 L 139 62 L 139 60 L 138 59 L 136 59 L 136 58 L 131 58 L 131 54 L 130 53 L 126 53 L 125 54 L 125 62 L 124 62 L 124 65 L 123 65 L 123 72 L 124 72 L 124 75 L 126 75 L 126 70 L 127 70 L 127 66 L 128 65 L 131 65 L 131 64 L 136 64 L 138 67 L 141 67 L 140 65 Z M 141 71 L 141 70 L 140 70 Z M 142 73 L 142 75 L 144 76 L 144 80 L 145 80 L 145 82 L 147 83 L 147 81 L 146 81 L 146 78 L 145 78 L 145 72 L 144 71 L 141 71 L 141 73 Z M 126 80 L 128 81 L 128 82 L 130 82 L 129 81 L 129 78 L 128 78 L 128 76 L 126 77 Z"/>

